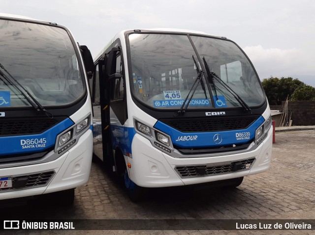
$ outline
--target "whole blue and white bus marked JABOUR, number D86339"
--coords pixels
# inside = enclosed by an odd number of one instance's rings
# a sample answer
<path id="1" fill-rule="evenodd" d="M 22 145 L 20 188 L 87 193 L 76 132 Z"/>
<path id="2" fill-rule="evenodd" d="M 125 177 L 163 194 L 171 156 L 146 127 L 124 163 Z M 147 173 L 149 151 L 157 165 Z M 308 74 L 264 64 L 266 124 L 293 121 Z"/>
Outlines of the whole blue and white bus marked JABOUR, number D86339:
<path id="1" fill-rule="evenodd" d="M 268 101 L 233 41 L 190 30 L 124 30 L 94 63 L 94 153 L 124 175 L 131 199 L 147 187 L 236 187 L 269 168 Z"/>

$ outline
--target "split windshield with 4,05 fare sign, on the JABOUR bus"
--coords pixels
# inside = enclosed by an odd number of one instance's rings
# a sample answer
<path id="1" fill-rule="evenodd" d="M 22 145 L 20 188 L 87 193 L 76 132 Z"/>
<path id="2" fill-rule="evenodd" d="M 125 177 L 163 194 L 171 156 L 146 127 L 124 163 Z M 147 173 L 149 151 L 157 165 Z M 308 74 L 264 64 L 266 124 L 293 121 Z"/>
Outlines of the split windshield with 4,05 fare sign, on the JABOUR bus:
<path id="1" fill-rule="evenodd" d="M 191 35 L 190 38 L 209 70 L 218 75 L 248 106 L 257 106 L 264 101 L 264 93 L 252 64 L 235 43 L 203 36 Z M 200 63 L 203 63 L 197 60 L 192 43 L 188 35 L 130 34 L 132 94 L 151 108 L 178 110 L 198 76 L 196 66 L 201 70 Z M 196 64 L 192 57 L 196 59 Z M 213 83 L 204 71 L 188 109 L 241 107 L 221 83 Z M 215 104 L 211 103 L 210 95 Z"/>

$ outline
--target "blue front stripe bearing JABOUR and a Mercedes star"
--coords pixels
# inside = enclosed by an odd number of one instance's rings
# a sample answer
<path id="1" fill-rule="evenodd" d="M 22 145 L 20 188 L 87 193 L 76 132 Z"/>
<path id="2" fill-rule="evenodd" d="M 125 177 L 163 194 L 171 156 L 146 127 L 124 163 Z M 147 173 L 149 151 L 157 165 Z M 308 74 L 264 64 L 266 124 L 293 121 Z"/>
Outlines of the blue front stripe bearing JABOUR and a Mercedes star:
<path id="1" fill-rule="evenodd" d="M 173 145 L 179 147 L 215 147 L 244 144 L 252 141 L 255 137 L 256 129 L 264 121 L 265 119 L 260 117 L 246 129 L 215 132 L 183 133 L 160 121 L 157 121 L 154 127 L 168 134 L 172 139 Z"/>

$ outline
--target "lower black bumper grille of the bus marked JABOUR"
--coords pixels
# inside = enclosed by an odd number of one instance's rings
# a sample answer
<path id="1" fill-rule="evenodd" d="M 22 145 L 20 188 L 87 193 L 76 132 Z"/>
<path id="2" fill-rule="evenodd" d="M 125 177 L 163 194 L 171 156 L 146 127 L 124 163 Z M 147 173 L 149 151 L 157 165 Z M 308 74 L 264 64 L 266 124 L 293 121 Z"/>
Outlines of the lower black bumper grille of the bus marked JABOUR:
<path id="1" fill-rule="evenodd" d="M 219 165 L 189 165 L 177 166 L 176 172 L 182 178 L 222 175 L 232 172 L 249 170 L 255 158 L 249 158 L 233 162 L 222 162 Z"/>

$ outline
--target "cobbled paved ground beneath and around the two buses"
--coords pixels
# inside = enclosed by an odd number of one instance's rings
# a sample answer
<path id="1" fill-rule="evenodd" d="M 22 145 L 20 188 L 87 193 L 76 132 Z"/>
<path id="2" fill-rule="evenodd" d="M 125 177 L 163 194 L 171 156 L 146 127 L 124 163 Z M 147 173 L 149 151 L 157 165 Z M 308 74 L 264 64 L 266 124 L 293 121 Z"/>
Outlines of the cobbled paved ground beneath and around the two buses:
<path id="1" fill-rule="evenodd" d="M 151 190 L 142 203 L 131 202 L 101 163 L 92 164 L 87 185 L 76 189 L 74 206 L 38 204 L 7 207 L 1 214 L 25 219 L 315 219 L 315 130 L 277 132 L 269 171 L 248 176 L 234 190 L 183 188 Z M 315 231 L 268 231 L 315 234 Z M 34 231 L 30 234 L 266 234 L 265 231 Z M 25 234 L 25 231 L 14 234 Z"/>

